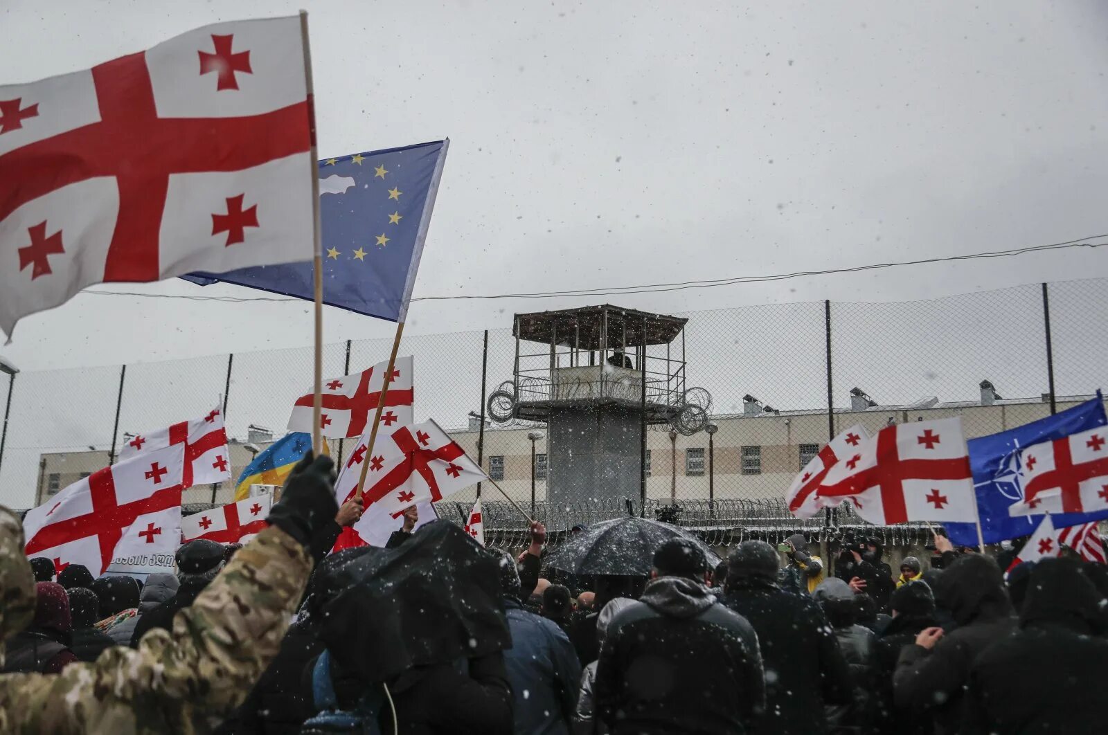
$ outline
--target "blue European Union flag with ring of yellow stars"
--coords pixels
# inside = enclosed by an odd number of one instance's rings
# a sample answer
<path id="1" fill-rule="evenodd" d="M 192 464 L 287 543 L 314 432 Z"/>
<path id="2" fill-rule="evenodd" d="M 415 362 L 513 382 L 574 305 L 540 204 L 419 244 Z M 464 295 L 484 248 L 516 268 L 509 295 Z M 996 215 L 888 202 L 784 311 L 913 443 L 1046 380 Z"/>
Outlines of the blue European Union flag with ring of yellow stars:
<path id="1" fill-rule="evenodd" d="M 319 162 L 324 303 L 403 321 L 449 141 Z M 311 261 L 183 276 L 311 300 Z"/>

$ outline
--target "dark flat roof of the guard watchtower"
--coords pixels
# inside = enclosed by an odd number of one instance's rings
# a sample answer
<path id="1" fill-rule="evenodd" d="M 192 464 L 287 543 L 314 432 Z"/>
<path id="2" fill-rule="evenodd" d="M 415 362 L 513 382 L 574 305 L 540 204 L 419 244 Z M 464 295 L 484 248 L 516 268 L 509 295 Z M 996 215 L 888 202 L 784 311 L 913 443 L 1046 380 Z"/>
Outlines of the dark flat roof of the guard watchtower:
<path id="1" fill-rule="evenodd" d="M 603 345 L 601 334 L 605 317 L 608 337 L 607 344 Z M 647 344 L 669 344 L 677 339 L 687 322 L 688 319 L 680 317 L 604 304 L 516 314 L 512 334 L 529 342 L 550 344 L 554 341 L 579 350 L 602 350 L 605 346 L 614 349 L 624 344 L 643 344 L 644 328 Z"/>

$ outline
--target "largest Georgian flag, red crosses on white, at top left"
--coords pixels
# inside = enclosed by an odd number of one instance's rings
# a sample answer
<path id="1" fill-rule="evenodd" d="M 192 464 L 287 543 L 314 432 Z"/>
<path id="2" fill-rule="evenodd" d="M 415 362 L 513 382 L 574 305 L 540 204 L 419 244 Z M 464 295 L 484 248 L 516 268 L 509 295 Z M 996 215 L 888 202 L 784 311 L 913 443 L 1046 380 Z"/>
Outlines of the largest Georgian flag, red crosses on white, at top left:
<path id="1" fill-rule="evenodd" d="M 86 286 L 311 255 L 297 17 L 0 86 L 0 329 Z"/>

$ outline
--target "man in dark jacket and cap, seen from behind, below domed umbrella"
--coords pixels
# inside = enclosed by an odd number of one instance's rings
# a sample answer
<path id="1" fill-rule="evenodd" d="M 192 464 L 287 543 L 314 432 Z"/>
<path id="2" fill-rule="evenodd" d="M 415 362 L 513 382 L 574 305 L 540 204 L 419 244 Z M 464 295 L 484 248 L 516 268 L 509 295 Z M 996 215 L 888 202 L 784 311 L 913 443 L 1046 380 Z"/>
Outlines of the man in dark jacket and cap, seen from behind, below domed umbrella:
<path id="1" fill-rule="evenodd" d="M 663 544 L 639 601 L 609 623 L 596 669 L 597 716 L 613 733 L 750 733 L 765 707 L 758 638 L 705 584 L 688 539 Z"/>

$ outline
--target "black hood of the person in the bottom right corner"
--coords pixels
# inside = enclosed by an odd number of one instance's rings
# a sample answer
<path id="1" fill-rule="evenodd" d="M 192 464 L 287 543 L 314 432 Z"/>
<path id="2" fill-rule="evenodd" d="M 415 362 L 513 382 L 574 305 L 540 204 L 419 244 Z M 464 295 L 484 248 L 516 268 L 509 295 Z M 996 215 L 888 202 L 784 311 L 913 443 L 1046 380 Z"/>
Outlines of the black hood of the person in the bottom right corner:
<path id="1" fill-rule="evenodd" d="M 1032 570 L 1019 627 L 1043 624 L 1097 635 L 1108 629 L 1108 601 L 1075 559 L 1043 559 Z"/>

